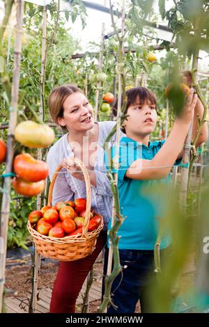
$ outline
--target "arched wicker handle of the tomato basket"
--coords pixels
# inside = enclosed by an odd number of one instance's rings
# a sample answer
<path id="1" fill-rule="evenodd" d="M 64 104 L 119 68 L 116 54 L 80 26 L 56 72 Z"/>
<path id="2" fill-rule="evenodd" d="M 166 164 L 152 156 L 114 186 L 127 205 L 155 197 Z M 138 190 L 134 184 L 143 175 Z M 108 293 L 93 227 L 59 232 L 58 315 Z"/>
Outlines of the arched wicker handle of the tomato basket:
<path id="1" fill-rule="evenodd" d="M 84 180 L 86 183 L 86 213 L 85 213 L 85 221 L 84 221 L 84 228 L 83 228 L 83 233 L 82 234 L 86 234 L 88 232 L 88 223 L 90 220 L 90 212 L 91 212 L 91 182 L 90 182 L 90 178 L 88 176 L 88 170 L 86 169 L 86 166 L 84 166 L 84 163 L 76 158 L 76 157 L 72 157 L 70 158 L 72 159 L 78 166 L 79 168 L 81 168 L 82 173 L 84 174 Z M 56 171 L 52 177 L 52 182 L 50 183 L 49 186 L 49 195 L 48 195 L 48 204 L 50 207 L 52 205 L 52 193 L 53 193 L 53 189 L 54 189 L 54 183 L 56 181 L 56 177 L 59 173 L 59 171 L 61 170 L 61 168 L 63 168 L 63 166 L 59 165 L 58 168 L 56 168 Z"/>

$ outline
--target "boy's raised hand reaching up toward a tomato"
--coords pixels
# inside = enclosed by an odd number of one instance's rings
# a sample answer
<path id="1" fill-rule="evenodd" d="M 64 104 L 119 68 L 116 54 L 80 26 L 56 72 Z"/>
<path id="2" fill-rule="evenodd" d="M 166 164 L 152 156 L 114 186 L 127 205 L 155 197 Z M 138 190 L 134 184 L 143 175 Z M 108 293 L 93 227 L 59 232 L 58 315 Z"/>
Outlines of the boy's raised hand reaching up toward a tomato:
<path id="1" fill-rule="evenodd" d="M 179 122 L 189 124 L 192 122 L 194 107 L 196 106 L 197 95 L 194 94 L 194 88 L 190 88 L 182 114 L 177 118 Z"/>

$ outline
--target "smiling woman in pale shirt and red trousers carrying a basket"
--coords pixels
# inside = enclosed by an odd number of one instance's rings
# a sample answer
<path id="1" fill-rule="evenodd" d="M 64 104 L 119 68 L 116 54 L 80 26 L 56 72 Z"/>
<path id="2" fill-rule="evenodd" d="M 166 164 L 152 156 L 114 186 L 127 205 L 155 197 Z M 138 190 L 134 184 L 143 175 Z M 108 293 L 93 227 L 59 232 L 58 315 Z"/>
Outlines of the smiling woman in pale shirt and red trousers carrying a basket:
<path id="1" fill-rule="evenodd" d="M 59 201 L 86 198 L 84 176 L 69 160 L 69 157 L 75 155 L 88 169 L 92 191 L 91 207 L 104 218 L 104 229 L 93 253 L 82 260 L 59 263 L 50 312 L 71 313 L 75 312 L 75 303 L 84 280 L 107 241 L 112 194 L 104 166 L 102 145 L 115 122 L 94 122 L 91 104 L 82 90 L 74 85 L 59 86 L 52 91 L 49 95 L 49 111 L 54 122 L 68 131 L 47 154 L 50 180 L 59 164 L 63 165 L 54 185 L 52 205 Z"/>

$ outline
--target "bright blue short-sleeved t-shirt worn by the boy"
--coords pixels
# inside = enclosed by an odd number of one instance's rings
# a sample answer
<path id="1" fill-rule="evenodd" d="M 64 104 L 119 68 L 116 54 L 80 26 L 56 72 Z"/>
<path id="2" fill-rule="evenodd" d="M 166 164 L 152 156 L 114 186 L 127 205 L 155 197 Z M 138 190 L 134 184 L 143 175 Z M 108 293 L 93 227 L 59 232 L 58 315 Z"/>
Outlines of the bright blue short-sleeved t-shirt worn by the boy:
<path id="1" fill-rule="evenodd" d="M 121 236 L 118 248 L 153 250 L 159 232 L 160 219 L 167 212 L 162 194 L 157 191 L 160 184 L 168 184 L 170 176 L 161 180 L 133 180 L 125 177 L 130 165 L 137 159 L 151 160 L 165 141 L 149 142 L 148 147 L 131 138 L 123 137 L 119 147 L 118 191 L 123 214 L 123 224 L 118 230 Z M 116 155 L 116 147 L 111 149 L 111 159 Z M 105 163 L 108 168 L 107 154 Z M 176 161 L 178 164 L 179 161 Z M 109 223 L 110 229 L 111 223 Z M 162 234 L 160 248 L 171 243 L 167 232 Z"/>

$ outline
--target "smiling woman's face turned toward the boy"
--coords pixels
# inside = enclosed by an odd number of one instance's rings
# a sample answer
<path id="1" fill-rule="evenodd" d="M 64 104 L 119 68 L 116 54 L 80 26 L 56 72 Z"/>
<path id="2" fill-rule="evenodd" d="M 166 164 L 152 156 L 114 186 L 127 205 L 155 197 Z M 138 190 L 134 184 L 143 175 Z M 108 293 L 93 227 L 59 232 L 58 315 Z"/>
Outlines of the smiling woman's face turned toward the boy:
<path id="1" fill-rule="evenodd" d="M 88 131 L 93 128 L 93 108 L 83 93 L 72 93 L 65 99 L 63 118 L 58 117 L 57 122 L 68 131 Z"/>

